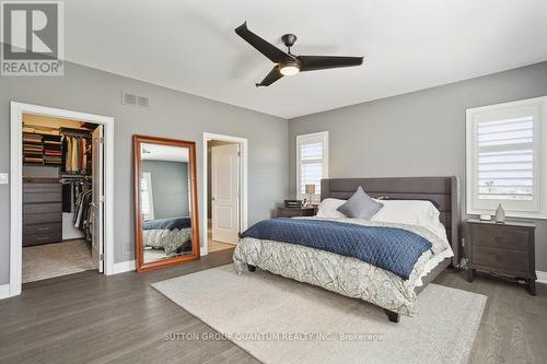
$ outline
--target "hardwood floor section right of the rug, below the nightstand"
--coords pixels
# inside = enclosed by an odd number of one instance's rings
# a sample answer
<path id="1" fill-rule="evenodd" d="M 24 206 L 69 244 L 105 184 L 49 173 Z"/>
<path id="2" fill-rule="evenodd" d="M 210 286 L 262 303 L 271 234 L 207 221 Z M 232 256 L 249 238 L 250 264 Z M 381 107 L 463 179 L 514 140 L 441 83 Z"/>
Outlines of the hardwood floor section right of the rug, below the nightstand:
<path id="1" fill-rule="evenodd" d="M 433 281 L 488 296 L 470 363 L 547 363 L 547 285 L 531 296 L 523 284 L 478 272 L 443 272 Z M 404 318 L 403 318 L 404 319 Z"/>

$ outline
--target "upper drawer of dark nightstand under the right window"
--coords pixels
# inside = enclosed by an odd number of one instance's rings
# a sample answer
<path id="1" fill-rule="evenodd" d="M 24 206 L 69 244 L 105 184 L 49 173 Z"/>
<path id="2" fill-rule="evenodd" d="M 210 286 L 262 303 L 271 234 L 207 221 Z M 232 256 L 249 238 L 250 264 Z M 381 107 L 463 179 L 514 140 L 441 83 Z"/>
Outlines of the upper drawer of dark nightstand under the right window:
<path id="1" fill-rule="evenodd" d="M 472 225 L 474 246 L 528 251 L 529 231 L 503 225 Z"/>

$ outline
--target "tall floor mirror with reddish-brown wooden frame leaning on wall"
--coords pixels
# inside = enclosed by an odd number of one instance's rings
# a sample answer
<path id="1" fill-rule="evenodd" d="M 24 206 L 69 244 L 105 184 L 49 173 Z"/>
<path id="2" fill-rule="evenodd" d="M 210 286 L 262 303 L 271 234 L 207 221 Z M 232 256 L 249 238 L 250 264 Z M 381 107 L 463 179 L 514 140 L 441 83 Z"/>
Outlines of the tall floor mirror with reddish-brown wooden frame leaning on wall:
<path id="1" fill-rule="evenodd" d="M 199 258 L 196 143 L 133 136 L 137 271 Z"/>

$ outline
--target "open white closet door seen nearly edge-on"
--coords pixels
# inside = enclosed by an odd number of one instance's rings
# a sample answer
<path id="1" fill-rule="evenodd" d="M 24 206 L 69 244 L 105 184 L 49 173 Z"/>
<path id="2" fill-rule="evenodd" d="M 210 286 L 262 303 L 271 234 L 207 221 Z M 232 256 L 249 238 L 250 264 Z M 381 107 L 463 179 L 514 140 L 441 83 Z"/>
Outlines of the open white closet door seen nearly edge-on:
<path id="1" fill-rule="evenodd" d="M 91 258 L 100 272 L 103 272 L 104 240 L 104 165 L 103 165 L 103 126 L 93 131 L 92 174 L 93 197 L 91 202 L 92 248 Z"/>

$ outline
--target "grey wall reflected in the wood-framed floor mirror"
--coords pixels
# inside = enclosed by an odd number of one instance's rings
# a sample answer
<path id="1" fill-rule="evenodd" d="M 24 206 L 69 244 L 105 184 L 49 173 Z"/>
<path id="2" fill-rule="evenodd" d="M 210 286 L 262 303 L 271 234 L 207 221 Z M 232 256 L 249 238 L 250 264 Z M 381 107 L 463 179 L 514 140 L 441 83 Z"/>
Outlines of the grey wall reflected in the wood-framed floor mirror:
<path id="1" fill-rule="evenodd" d="M 154 219 L 189 216 L 188 163 L 142 161 L 141 166 L 150 173 Z"/>

